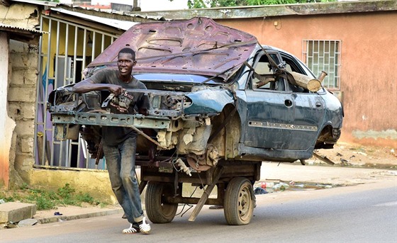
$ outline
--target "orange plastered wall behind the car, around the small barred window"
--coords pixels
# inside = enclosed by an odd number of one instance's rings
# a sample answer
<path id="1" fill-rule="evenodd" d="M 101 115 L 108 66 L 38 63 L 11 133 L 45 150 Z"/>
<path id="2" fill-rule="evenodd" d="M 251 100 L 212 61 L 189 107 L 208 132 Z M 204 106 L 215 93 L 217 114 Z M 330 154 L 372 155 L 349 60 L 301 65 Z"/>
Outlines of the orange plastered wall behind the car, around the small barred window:
<path id="1" fill-rule="evenodd" d="M 302 57 L 302 41 L 342 40 L 341 141 L 397 147 L 396 11 L 216 20 Z"/>

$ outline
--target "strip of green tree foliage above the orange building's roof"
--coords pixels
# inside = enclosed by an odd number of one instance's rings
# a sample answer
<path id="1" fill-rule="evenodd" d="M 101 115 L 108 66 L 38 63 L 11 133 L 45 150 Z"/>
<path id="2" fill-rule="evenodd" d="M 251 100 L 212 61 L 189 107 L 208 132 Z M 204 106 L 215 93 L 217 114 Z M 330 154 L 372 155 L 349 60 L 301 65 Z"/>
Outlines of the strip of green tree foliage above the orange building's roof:
<path id="1" fill-rule="evenodd" d="M 173 0 L 169 0 L 173 1 Z M 336 0 L 188 0 L 189 9 L 202 9 L 228 6 L 254 6 L 272 4 L 306 4 Z"/>

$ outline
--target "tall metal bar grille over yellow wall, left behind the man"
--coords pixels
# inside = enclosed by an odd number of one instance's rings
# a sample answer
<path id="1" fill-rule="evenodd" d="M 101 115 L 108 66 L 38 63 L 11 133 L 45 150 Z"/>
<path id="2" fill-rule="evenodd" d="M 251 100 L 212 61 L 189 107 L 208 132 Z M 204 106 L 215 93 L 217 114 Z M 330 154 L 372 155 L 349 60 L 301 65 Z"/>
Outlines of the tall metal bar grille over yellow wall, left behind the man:
<path id="1" fill-rule="evenodd" d="M 55 138 L 46 110 L 50 92 L 82 79 L 82 71 L 95 57 L 111 45 L 118 35 L 89 28 L 59 18 L 42 16 L 38 64 L 39 82 L 35 118 L 35 166 L 76 169 L 106 169 L 104 159 L 98 165 L 89 156 L 86 143 Z"/>

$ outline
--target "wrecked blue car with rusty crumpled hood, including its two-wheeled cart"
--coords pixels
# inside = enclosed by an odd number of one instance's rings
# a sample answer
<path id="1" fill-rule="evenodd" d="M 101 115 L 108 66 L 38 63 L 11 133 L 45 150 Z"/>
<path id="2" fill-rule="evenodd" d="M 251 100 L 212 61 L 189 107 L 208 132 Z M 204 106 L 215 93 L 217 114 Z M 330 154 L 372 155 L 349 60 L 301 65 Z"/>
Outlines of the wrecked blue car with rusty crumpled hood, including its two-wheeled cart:
<path id="1" fill-rule="evenodd" d="M 84 76 L 116 67 L 118 51 L 136 52 L 135 78 L 147 89 L 147 114 L 109 113 L 106 91 L 50 94 L 57 139 L 82 135 L 91 157 L 101 154 L 99 130 L 126 126 L 139 134 L 136 164 L 145 208 L 155 223 L 171 222 L 179 203 L 223 205 L 229 225 L 247 225 L 255 208 L 252 183 L 262 161 L 295 162 L 330 149 L 340 137 L 342 105 L 308 67 L 255 36 L 210 18 L 140 23 L 91 62 Z M 149 131 L 149 132 L 147 132 Z M 203 189 L 186 196 L 187 184 Z M 215 186 L 217 198 L 208 198 Z"/>

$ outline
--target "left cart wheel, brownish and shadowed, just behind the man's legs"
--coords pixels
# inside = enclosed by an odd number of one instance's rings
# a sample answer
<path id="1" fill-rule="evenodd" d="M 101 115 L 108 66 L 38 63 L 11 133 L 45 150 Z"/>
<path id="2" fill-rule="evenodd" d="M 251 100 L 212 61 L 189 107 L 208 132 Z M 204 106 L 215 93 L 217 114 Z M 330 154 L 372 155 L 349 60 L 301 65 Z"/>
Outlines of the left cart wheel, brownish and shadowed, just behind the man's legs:
<path id="1" fill-rule="evenodd" d="M 149 220 L 153 223 L 171 222 L 177 213 L 178 203 L 164 203 L 164 196 L 172 196 L 174 186 L 170 183 L 149 181 L 146 188 L 145 207 Z"/>

